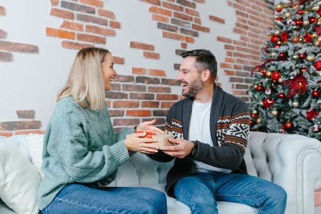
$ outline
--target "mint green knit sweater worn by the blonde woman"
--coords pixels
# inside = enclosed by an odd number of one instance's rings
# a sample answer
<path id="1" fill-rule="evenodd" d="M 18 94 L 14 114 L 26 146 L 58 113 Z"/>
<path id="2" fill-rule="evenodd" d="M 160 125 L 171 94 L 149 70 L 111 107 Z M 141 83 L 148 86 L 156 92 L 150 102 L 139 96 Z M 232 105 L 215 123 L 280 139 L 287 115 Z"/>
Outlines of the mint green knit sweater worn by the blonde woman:
<path id="1" fill-rule="evenodd" d="M 44 135 L 39 209 L 48 206 L 59 190 L 71 183 L 112 182 L 117 168 L 129 160 L 124 143 L 134 129 L 114 133 L 108 107 L 92 111 L 72 98 L 57 102 Z"/>

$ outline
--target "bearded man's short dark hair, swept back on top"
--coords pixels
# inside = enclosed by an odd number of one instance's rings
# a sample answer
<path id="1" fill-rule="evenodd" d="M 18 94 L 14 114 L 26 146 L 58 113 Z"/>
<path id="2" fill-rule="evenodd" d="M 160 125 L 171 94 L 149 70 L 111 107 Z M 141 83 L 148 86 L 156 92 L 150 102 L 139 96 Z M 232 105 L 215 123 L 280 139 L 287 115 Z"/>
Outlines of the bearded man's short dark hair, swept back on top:
<path id="1" fill-rule="evenodd" d="M 191 51 L 186 51 L 182 53 L 182 57 L 185 58 L 187 56 L 195 56 L 195 67 L 198 72 L 202 72 L 205 69 L 209 69 L 211 71 L 213 81 L 216 79 L 217 75 L 217 62 L 214 54 L 205 49 L 195 49 Z"/>

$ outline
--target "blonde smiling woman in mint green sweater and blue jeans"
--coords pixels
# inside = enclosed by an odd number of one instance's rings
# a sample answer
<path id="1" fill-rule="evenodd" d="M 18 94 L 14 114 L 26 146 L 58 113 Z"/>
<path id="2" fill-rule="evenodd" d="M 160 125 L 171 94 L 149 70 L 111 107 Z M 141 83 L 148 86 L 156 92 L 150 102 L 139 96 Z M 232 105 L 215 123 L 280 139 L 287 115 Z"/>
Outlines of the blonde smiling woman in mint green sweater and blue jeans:
<path id="1" fill-rule="evenodd" d="M 44 136 L 38 205 L 43 213 L 167 213 L 163 192 L 151 188 L 103 187 L 136 151 L 152 154 L 154 139 L 146 132 L 165 133 L 155 119 L 114 133 L 105 91 L 117 75 L 111 53 L 83 48 L 70 69 Z M 124 140 L 125 139 L 125 140 Z"/>

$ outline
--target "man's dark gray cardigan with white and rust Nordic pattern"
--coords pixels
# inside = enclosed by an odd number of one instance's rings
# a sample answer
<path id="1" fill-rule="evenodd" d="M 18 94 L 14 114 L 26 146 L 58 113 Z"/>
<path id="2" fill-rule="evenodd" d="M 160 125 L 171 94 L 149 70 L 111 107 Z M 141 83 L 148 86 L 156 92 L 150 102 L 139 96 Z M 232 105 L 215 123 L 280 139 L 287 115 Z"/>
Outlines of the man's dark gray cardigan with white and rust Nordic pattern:
<path id="1" fill-rule="evenodd" d="M 188 140 L 192 103 L 193 98 L 185 98 L 169 109 L 166 118 L 167 133 L 173 134 L 175 138 Z M 198 149 L 193 160 L 219 168 L 232 169 L 236 173 L 247 173 L 243 157 L 250 131 L 248 105 L 243 100 L 223 91 L 216 84 L 214 84 L 210 113 L 210 129 L 214 146 L 196 141 Z M 164 152 L 149 156 L 160 162 L 169 162 L 174 159 Z M 172 186 L 179 179 L 188 176 L 191 169 L 191 158 L 175 159 L 165 184 L 165 190 L 169 196 L 174 197 Z"/>

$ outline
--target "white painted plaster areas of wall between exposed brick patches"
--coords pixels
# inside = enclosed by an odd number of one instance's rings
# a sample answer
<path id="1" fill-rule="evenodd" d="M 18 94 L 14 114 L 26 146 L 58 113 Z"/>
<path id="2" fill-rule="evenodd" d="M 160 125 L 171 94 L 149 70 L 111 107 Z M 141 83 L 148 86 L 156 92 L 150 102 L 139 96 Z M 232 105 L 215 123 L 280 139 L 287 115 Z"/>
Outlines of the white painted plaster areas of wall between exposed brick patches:
<path id="1" fill-rule="evenodd" d="M 235 11 L 227 6 L 227 1 L 205 2 L 196 3 L 195 10 L 200 11 L 202 26 L 209 27 L 210 33 L 199 32 L 195 43 L 188 44 L 188 50 L 209 49 L 219 64 L 224 62 L 225 50 L 216 36 L 239 38 L 233 33 Z M 0 5 L 6 8 L 6 16 L 0 16 L 0 29 L 7 31 L 5 41 L 39 48 L 38 54 L 13 53 L 13 62 L 0 62 L 0 122 L 18 120 L 17 110 L 35 110 L 35 120 L 41 120 L 45 129 L 55 107 L 56 93 L 64 84 L 77 51 L 62 48 L 60 38 L 46 36 L 46 27 L 59 28 L 63 22 L 49 15 L 49 0 L 0 0 Z M 173 69 L 173 64 L 181 61 L 175 49 L 180 49 L 180 43 L 162 37 L 157 22 L 151 21 L 150 7 L 137 0 L 104 1 L 104 9 L 115 13 L 115 21 L 122 24 L 122 29 L 116 29 L 116 36 L 107 37 L 107 44 L 101 47 L 126 59 L 125 65 L 115 65 L 119 74 L 130 75 L 132 67 L 145 67 L 165 70 L 168 78 L 175 79 L 178 71 Z M 224 18 L 226 24 L 209 21 L 209 15 Z M 143 59 L 142 50 L 129 47 L 131 41 L 155 45 L 160 60 Z M 218 70 L 218 76 L 223 89 L 230 93 L 222 69 Z M 180 94 L 180 87 L 174 86 L 172 90 Z"/>

